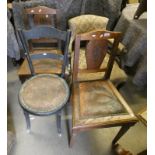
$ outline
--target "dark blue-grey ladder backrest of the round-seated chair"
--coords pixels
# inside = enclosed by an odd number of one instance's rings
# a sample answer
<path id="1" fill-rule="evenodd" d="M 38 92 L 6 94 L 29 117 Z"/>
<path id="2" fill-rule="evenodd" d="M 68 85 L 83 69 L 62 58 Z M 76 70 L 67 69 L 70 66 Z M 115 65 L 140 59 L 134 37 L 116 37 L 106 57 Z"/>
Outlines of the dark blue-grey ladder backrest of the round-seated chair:
<path id="1" fill-rule="evenodd" d="M 42 26 L 33 27 L 32 29 L 29 29 L 29 30 L 20 30 L 19 36 L 22 41 L 25 55 L 28 60 L 32 75 L 35 74 L 33 63 L 32 63 L 32 61 L 34 59 L 50 58 L 50 59 L 57 59 L 57 60 L 63 61 L 61 75 L 64 76 L 65 67 L 66 67 L 67 58 L 68 58 L 68 44 L 69 44 L 69 39 L 70 39 L 69 31 L 67 31 L 67 32 L 61 31 L 54 27 L 42 25 Z M 42 54 L 30 54 L 28 41 L 31 39 L 41 39 L 41 38 L 57 39 L 57 40 L 63 41 L 64 46 L 62 47 L 62 51 L 63 51 L 64 55 L 54 54 L 54 53 L 46 53 L 46 52 L 42 53 Z"/>

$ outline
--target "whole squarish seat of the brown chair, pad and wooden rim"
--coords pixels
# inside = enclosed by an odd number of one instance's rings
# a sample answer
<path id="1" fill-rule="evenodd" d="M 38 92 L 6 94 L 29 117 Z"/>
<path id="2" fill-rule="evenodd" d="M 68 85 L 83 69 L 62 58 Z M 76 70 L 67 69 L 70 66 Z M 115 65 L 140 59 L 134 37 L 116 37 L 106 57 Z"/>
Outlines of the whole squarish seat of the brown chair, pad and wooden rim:
<path id="1" fill-rule="evenodd" d="M 73 85 L 72 130 L 87 127 L 130 123 L 137 120 L 134 113 L 113 84 L 106 81 L 89 81 Z"/>

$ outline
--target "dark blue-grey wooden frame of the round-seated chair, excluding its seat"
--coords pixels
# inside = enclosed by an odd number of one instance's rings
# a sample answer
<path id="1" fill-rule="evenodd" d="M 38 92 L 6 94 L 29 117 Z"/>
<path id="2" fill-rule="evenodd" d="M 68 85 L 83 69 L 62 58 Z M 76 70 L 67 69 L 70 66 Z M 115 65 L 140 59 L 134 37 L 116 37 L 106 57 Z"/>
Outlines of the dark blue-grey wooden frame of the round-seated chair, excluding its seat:
<path id="1" fill-rule="evenodd" d="M 19 36 L 21 39 L 21 42 L 23 44 L 24 50 L 25 50 L 25 55 L 30 67 L 31 75 L 35 77 L 38 77 L 39 75 L 36 75 L 35 69 L 33 67 L 33 60 L 36 59 L 56 59 L 63 61 L 62 65 L 62 73 L 60 75 L 61 78 L 65 78 L 65 68 L 66 68 L 66 63 L 67 63 L 67 54 L 68 54 L 68 43 L 69 43 L 69 38 L 70 38 L 70 32 L 65 32 L 65 31 L 60 31 L 56 28 L 49 27 L 49 26 L 38 26 L 34 27 L 30 30 L 20 30 L 19 31 Z M 64 41 L 65 47 L 64 47 L 64 55 L 60 54 L 54 54 L 54 53 L 42 53 L 42 54 L 30 54 L 29 53 L 29 48 L 28 48 L 28 40 L 29 39 L 37 39 L 37 38 L 42 38 L 42 37 L 48 37 L 48 38 L 56 38 Z M 44 75 L 44 74 L 43 74 Z M 46 75 L 46 74 L 45 74 Z M 19 96 L 19 102 L 20 102 L 20 96 Z M 57 111 L 52 111 L 52 112 L 46 112 L 46 113 L 39 113 L 39 112 L 31 112 L 25 109 L 23 106 L 21 106 L 25 119 L 26 119 L 26 124 L 27 124 L 27 129 L 30 131 L 30 118 L 29 114 L 37 115 L 37 116 L 48 116 L 51 114 L 56 113 L 56 118 L 57 118 L 57 128 L 58 128 L 58 133 L 61 134 L 61 109 L 58 109 Z"/>

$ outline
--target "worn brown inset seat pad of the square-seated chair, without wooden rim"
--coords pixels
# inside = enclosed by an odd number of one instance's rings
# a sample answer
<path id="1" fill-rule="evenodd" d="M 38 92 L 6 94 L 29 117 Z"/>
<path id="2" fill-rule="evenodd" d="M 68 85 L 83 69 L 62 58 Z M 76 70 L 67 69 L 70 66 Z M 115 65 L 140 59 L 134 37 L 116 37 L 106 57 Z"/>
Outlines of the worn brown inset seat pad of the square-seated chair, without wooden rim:
<path id="1" fill-rule="evenodd" d="M 82 117 L 99 117 L 125 112 L 117 97 L 104 81 L 81 82 L 79 92 Z"/>

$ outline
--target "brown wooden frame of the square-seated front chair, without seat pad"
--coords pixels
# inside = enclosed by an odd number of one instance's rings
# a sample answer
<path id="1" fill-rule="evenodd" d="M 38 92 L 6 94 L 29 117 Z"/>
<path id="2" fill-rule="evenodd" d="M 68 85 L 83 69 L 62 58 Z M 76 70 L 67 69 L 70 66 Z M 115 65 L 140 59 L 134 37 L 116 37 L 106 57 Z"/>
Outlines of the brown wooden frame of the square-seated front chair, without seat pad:
<path id="1" fill-rule="evenodd" d="M 112 144 L 115 144 L 123 134 L 126 133 L 126 131 L 133 126 L 137 122 L 137 118 L 135 117 L 134 113 L 130 109 L 130 107 L 127 105 L 123 97 L 119 94 L 117 89 L 114 87 L 114 85 L 108 80 L 110 78 L 110 74 L 112 71 L 113 63 L 115 60 L 116 55 L 116 49 L 118 47 L 119 41 L 121 38 L 121 33 L 119 32 L 110 32 L 106 30 L 96 30 L 89 33 L 77 35 L 75 39 L 75 53 L 74 53 L 74 64 L 73 64 L 73 83 L 72 83 L 72 96 L 71 96 L 71 102 L 73 106 L 72 110 L 72 131 L 71 131 L 71 137 L 70 137 L 70 147 L 73 145 L 73 139 L 75 135 L 80 131 L 86 131 L 89 129 L 94 128 L 103 128 L 103 127 L 116 127 L 116 126 L 122 126 L 114 140 L 112 141 Z M 105 41 L 100 42 L 98 45 L 102 46 L 102 43 L 105 44 L 105 46 L 108 46 L 106 41 L 108 42 L 108 39 L 114 39 L 113 47 L 110 53 L 110 58 L 107 64 L 106 68 L 100 69 L 96 66 L 87 66 L 87 69 L 80 70 L 79 67 L 79 52 L 80 52 L 80 43 L 81 41 Z M 89 49 L 95 49 L 93 47 L 93 43 Z M 103 49 L 105 52 L 108 51 L 108 48 Z M 97 56 L 97 59 L 100 59 L 101 55 L 103 53 L 100 53 Z M 89 55 L 88 55 L 89 56 Z M 96 59 L 96 60 L 97 60 Z M 103 58 L 104 59 L 104 58 Z M 88 63 L 93 61 L 93 56 L 88 58 Z M 96 62 L 98 63 L 98 62 Z M 78 80 L 78 74 L 80 72 L 86 72 L 86 73 L 95 73 L 95 72 L 105 72 L 104 78 L 100 79 L 99 81 L 105 81 L 107 85 L 110 87 L 111 91 L 117 96 L 118 100 L 122 104 L 122 106 L 127 111 L 127 115 L 118 115 L 118 116 L 108 116 L 108 117 L 101 117 L 98 119 L 92 120 L 91 118 L 83 119 L 82 116 L 80 116 L 80 110 L 78 110 L 82 106 L 79 105 L 80 101 L 77 101 L 79 95 L 80 95 L 80 89 L 79 84 L 81 83 L 81 80 Z M 98 81 L 98 80 L 95 80 Z M 88 81 L 83 81 L 88 82 Z M 91 82 L 91 81 L 90 81 Z M 84 104 L 84 102 L 83 102 Z"/>

